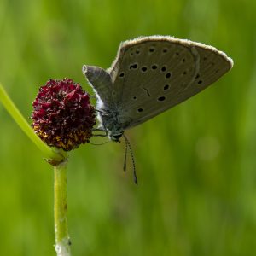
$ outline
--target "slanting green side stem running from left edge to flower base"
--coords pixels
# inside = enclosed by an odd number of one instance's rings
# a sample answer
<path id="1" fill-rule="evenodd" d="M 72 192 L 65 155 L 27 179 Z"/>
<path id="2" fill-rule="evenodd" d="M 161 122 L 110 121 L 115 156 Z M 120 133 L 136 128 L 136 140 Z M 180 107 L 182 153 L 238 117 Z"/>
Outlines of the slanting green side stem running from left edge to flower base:
<path id="1" fill-rule="evenodd" d="M 26 119 L 22 116 L 19 109 L 16 108 L 15 103 L 12 102 L 7 92 L 4 90 L 3 85 L 0 83 L 0 102 L 3 103 L 4 108 L 9 112 L 9 114 L 15 119 L 15 122 L 20 126 L 21 130 L 24 131 L 33 143 L 35 143 L 38 148 L 43 152 L 45 158 L 50 160 L 61 161 L 65 158 L 65 155 L 60 154 L 60 152 L 55 152 L 53 148 L 47 146 L 35 132 L 32 127 L 27 123 Z"/>

